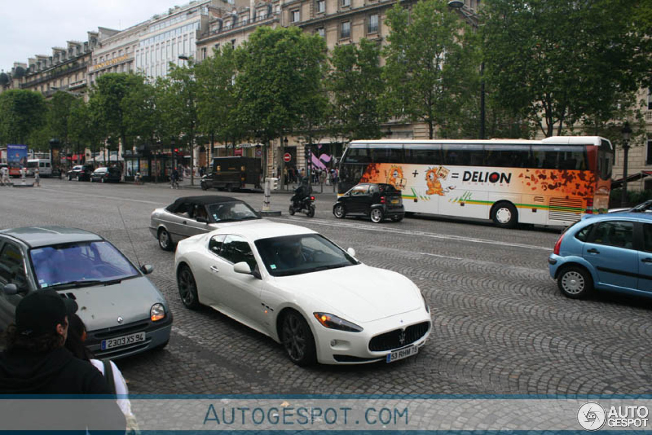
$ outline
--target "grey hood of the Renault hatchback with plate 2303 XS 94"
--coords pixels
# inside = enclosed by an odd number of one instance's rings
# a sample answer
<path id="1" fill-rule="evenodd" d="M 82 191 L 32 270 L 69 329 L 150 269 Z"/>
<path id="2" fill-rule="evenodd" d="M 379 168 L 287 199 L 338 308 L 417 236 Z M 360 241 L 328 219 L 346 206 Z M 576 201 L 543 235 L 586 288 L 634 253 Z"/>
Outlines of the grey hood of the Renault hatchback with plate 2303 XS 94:
<path id="1" fill-rule="evenodd" d="M 149 309 L 165 299 L 146 277 L 125 279 L 110 286 L 93 286 L 59 290 L 59 294 L 74 295 L 82 318 L 89 331 L 126 325 L 149 318 Z M 123 318 L 118 323 L 117 318 Z"/>

